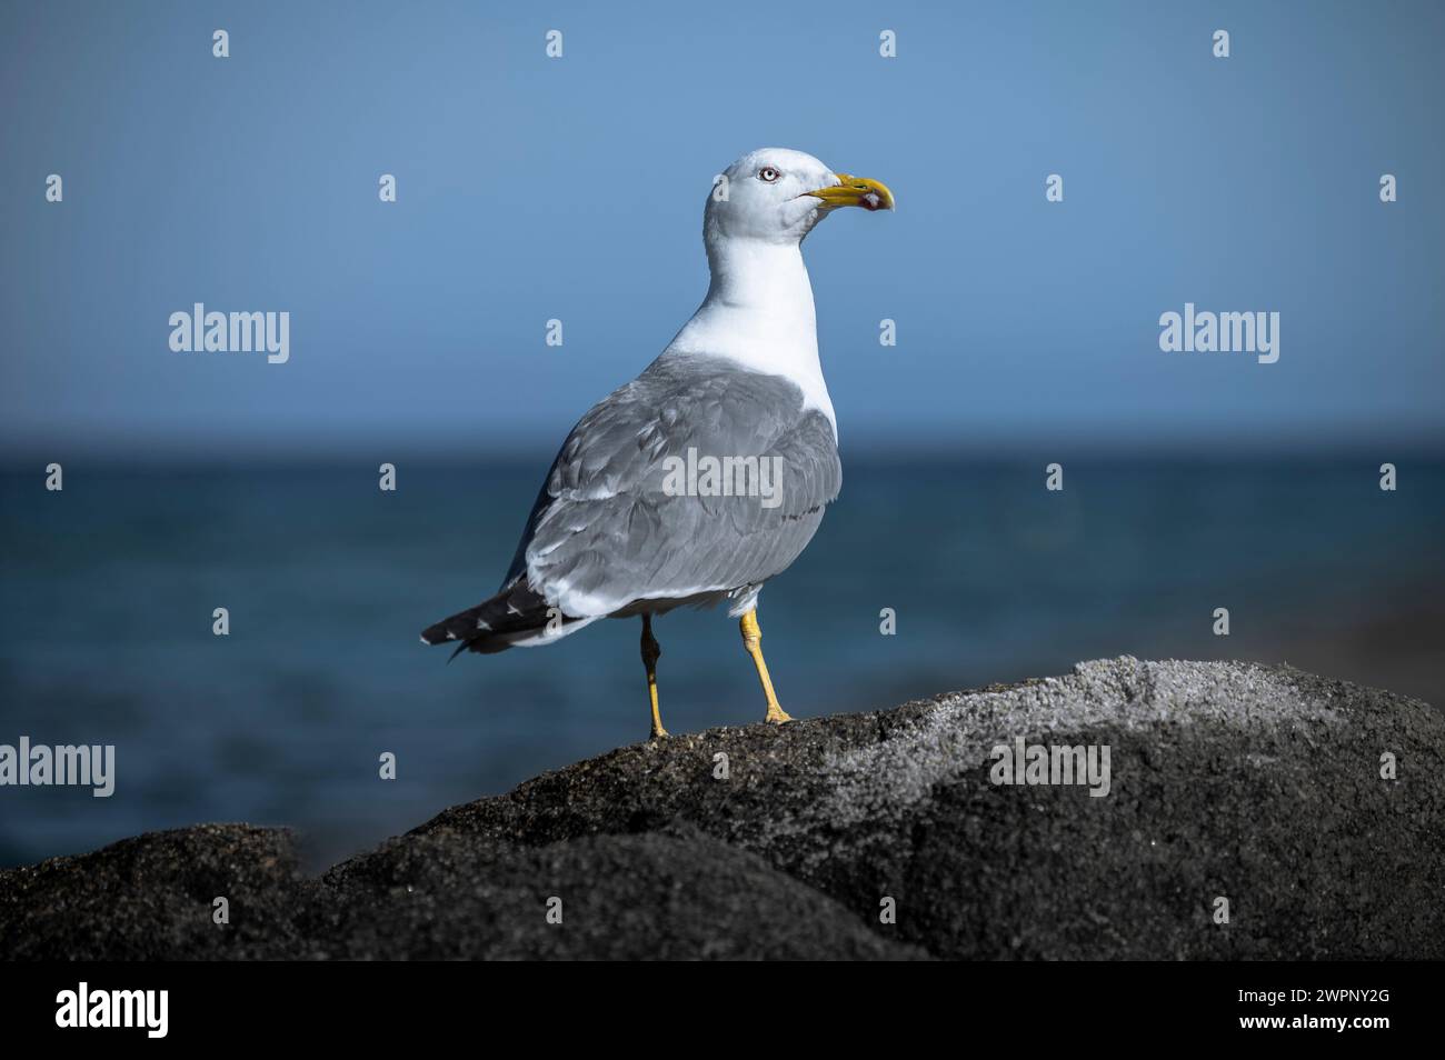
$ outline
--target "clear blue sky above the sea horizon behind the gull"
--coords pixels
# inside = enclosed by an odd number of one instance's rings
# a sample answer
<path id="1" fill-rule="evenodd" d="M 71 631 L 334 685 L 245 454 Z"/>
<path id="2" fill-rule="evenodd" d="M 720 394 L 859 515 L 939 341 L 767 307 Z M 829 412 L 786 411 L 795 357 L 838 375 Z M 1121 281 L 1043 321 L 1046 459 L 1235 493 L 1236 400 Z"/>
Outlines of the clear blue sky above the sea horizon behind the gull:
<path id="1" fill-rule="evenodd" d="M 10 453 L 555 446 L 696 308 L 759 146 L 897 195 L 805 246 L 845 452 L 1445 442 L 1436 3 L 61 1 L 0 39 Z M 288 310 L 290 361 L 172 352 L 195 302 Z M 1162 352 L 1185 302 L 1279 312 L 1279 362 Z"/>

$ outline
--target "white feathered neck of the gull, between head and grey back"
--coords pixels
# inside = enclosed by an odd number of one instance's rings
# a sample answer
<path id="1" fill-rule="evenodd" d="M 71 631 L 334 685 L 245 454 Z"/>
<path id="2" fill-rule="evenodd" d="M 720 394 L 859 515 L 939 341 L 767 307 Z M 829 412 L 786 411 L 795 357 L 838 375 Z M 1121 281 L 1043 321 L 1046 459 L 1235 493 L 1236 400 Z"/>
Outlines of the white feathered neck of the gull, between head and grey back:
<path id="1" fill-rule="evenodd" d="M 798 243 L 708 240 L 712 283 L 666 354 L 707 354 L 750 371 L 783 375 L 803 391 L 803 409 L 832 423 L 832 400 L 818 361 L 818 318 Z"/>

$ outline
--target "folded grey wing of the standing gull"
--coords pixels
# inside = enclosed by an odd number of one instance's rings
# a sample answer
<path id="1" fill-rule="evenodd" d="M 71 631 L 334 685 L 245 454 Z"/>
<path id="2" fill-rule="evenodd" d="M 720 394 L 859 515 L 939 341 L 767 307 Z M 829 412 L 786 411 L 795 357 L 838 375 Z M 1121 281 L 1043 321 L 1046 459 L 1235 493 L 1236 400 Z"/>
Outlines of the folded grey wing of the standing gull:
<path id="1" fill-rule="evenodd" d="M 709 495 L 702 478 L 679 491 L 689 451 L 694 466 L 733 458 L 737 485 L 756 466 L 763 490 Z M 526 578 L 562 614 L 585 617 L 759 585 L 812 540 L 841 484 L 832 423 L 803 412 L 795 384 L 663 357 L 572 429 L 504 586 Z"/>

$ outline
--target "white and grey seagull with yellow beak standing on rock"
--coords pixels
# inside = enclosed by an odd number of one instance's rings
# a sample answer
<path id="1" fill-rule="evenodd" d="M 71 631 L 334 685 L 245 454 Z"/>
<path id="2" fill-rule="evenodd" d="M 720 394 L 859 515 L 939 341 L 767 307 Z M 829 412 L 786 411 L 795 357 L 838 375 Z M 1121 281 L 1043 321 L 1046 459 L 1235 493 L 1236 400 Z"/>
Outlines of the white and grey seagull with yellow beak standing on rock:
<path id="1" fill-rule="evenodd" d="M 802 241 L 834 209 L 893 209 L 879 181 L 766 147 L 714 178 L 702 215 L 711 283 L 637 378 L 582 416 L 552 462 L 501 589 L 422 633 L 494 653 L 549 644 L 600 618 L 642 618 L 652 738 L 656 615 L 728 604 L 777 702 L 757 596 L 798 559 L 838 497 L 838 423 L 818 361 Z"/>

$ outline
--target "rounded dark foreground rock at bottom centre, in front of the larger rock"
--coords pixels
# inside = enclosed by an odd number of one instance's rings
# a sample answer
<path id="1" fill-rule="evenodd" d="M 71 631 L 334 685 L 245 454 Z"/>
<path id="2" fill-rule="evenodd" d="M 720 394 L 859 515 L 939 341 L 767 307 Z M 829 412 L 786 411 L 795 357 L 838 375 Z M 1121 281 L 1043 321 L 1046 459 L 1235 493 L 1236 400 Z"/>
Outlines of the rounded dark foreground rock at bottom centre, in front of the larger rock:
<path id="1" fill-rule="evenodd" d="M 332 872 L 340 957 L 916 959 L 832 898 L 688 829 L 496 846 L 410 835 Z M 549 900 L 562 923 L 548 923 Z"/>

